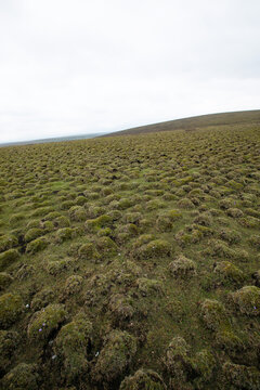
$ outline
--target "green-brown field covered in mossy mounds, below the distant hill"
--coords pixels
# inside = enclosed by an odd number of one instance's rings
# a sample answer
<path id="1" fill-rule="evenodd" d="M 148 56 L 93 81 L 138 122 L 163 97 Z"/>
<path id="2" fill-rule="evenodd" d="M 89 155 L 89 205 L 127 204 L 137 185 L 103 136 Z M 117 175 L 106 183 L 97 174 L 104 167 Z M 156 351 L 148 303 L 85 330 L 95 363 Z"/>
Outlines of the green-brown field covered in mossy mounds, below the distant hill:
<path id="1" fill-rule="evenodd" d="M 259 389 L 259 141 L 1 148 L 2 389 Z"/>

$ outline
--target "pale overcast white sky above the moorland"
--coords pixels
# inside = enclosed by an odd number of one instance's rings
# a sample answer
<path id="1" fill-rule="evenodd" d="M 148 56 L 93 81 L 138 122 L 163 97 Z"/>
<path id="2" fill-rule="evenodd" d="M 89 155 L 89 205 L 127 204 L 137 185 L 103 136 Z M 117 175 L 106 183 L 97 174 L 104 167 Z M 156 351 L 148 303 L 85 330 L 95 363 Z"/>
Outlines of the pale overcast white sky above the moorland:
<path id="1" fill-rule="evenodd" d="M 0 143 L 260 108 L 259 0 L 0 0 Z"/>

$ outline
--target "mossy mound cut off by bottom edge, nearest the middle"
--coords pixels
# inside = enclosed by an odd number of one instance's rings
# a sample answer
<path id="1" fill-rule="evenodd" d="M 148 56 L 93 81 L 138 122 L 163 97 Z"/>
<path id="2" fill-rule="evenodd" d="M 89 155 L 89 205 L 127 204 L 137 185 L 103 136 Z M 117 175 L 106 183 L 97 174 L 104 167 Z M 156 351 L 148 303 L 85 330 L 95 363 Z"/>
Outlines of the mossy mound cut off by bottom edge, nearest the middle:
<path id="1" fill-rule="evenodd" d="M 152 369 L 139 369 L 123 379 L 119 390 L 166 390 L 162 378 Z"/>

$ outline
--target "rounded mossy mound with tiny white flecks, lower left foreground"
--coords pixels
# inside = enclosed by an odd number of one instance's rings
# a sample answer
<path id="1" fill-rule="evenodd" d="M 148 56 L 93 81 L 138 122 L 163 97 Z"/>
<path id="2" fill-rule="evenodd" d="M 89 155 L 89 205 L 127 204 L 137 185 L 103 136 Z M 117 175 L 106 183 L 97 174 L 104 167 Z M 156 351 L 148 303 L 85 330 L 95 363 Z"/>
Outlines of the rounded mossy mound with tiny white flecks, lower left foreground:
<path id="1" fill-rule="evenodd" d="M 49 304 L 36 312 L 30 318 L 27 335 L 34 340 L 48 340 L 51 334 L 58 328 L 67 315 L 63 304 Z"/>

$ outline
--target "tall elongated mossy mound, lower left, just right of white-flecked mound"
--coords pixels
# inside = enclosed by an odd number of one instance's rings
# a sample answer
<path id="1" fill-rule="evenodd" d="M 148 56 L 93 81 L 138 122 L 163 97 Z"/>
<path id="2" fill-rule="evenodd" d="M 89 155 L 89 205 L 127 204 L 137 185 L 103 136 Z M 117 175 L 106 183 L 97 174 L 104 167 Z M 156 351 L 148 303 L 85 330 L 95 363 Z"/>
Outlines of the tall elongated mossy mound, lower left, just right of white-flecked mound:
<path id="1" fill-rule="evenodd" d="M 82 313 L 58 332 L 54 351 L 63 362 L 62 376 L 68 381 L 88 370 L 88 351 L 91 349 L 92 337 L 92 323 Z"/>

